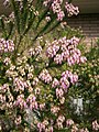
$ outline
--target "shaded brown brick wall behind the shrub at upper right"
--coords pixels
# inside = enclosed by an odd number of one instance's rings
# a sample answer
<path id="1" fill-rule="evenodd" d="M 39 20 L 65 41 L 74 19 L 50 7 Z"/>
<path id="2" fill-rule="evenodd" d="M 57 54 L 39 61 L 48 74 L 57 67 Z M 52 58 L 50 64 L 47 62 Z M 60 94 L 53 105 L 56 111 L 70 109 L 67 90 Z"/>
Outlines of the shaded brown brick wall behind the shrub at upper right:
<path id="1" fill-rule="evenodd" d="M 98 14 L 79 14 L 67 19 L 72 28 L 80 28 L 88 37 L 99 37 L 99 13 Z"/>

